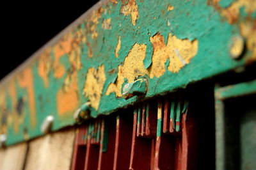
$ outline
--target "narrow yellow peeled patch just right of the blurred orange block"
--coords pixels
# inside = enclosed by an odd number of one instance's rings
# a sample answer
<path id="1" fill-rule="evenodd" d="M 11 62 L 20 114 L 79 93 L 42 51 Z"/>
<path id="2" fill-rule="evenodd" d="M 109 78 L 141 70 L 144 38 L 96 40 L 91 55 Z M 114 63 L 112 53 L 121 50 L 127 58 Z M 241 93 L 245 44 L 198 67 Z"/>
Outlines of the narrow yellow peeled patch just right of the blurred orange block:
<path id="1" fill-rule="evenodd" d="M 105 81 L 106 75 L 104 72 L 104 65 L 99 66 L 97 70 L 93 67 L 88 69 L 84 84 L 84 96 L 89 97 L 92 107 L 96 110 L 99 108 Z"/>

